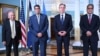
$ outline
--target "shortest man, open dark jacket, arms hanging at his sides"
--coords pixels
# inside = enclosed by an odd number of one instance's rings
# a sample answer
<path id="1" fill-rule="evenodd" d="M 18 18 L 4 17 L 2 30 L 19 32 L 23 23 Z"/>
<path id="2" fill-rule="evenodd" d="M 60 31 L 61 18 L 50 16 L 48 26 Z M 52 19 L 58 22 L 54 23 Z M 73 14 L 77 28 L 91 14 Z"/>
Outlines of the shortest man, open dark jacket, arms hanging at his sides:
<path id="1" fill-rule="evenodd" d="M 18 44 L 21 39 L 20 22 L 15 20 L 13 11 L 8 12 L 8 18 L 2 25 L 2 41 L 6 46 L 6 56 L 11 56 L 11 47 L 14 48 L 14 56 L 18 56 Z"/>

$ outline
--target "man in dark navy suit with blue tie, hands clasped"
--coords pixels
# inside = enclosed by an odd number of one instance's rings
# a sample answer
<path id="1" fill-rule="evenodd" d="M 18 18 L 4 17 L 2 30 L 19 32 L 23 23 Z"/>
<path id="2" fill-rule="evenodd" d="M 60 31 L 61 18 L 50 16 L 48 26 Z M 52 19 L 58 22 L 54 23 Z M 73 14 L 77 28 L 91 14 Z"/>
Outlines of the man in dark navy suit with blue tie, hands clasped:
<path id="1" fill-rule="evenodd" d="M 69 56 L 70 31 L 72 29 L 72 17 L 65 13 L 65 4 L 59 5 L 60 14 L 54 18 L 54 30 L 57 40 L 57 56 L 62 56 L 62 42 L 64 43 L 65 56 Z"/>

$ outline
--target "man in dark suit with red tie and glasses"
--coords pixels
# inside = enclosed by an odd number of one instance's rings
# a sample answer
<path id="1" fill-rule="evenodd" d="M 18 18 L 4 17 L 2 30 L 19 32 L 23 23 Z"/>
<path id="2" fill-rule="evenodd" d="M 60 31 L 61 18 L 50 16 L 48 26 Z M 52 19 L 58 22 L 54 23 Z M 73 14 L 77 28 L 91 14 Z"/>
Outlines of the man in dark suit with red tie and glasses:
<path id="1" fill-rule="evenodd" d="M 89 46 L 91 47 L 92 56 L 97 56 L 98 34 L 100 20 L 99 16 L 93 14 L 94 6 L 87 6 L 87 14 L 81 16 L 80 28 L 82 31 L 81 39 L 83 41 L 83 55 L 88 56 Z"/>

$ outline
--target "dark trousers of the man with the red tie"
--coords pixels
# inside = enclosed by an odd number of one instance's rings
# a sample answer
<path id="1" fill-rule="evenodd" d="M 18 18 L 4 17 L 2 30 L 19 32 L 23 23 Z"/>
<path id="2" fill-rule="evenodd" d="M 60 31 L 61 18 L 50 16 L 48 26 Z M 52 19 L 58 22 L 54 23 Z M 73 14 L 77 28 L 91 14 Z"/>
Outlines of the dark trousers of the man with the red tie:
<path id="1" fill-rule="evenodd" d="M 97 56 L 97 47 L 98 47 L 98 41 L 83 41 L 83 56 L 88 56 L 89 54 L 89 46 L 92 52 L 92 56 Z"/>

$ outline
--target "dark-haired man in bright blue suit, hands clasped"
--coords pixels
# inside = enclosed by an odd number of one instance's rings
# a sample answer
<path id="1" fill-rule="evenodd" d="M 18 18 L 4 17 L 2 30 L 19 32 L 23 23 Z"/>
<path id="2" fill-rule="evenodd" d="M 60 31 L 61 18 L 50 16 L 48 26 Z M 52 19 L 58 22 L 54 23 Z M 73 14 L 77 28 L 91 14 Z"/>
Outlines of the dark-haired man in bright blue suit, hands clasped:
<path id="1" fill-rule="evenodd" d="M 29 30 L 32 34 L 33 56 L 38 56 L 39 45 L 40 56 L 46 56 L 48 18 L 46 15 L 40 13 L 39 5 L 35 5 L 34 10 L 35 14 L 29 19 Z"/>

